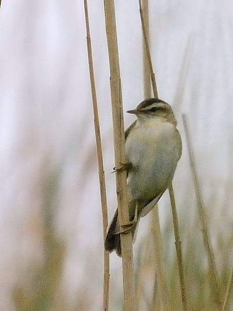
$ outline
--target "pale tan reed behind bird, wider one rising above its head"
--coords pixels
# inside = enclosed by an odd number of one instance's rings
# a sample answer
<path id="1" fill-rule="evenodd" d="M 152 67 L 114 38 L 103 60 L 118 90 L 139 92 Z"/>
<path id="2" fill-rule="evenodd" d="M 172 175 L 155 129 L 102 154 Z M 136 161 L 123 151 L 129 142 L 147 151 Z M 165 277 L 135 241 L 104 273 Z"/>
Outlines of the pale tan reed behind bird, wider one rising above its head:
<path id="1" fill-rule="evenodd" d="M 143 17 L 145 22 L 145 31 L 148 38 L 149 44 L 149 7 L 148 0 L 142 1 L 143 6 Z M 151 80 L 150 80 L 150 67 L 148 62 L 148 53 L 146 51 L 145 45 L 143 45 L 143 64 L 144 64 L 144 97 L 151 97 Z M 164 255 L 163 255 L 163 242 L 159 223 L 159 211 L 158 205 L 156 204 L 151 210 L 151 234 L 153 236 L 153 263 L 155 266 L 155 279 L 154 279 L 154 290 L 157 289 L 159 293 L 160 309 L 169 310 L 168 294 L 166 287 L 166 272 L 164 265 Z M 153 294 L 152 306 L 156 306 L 157 296 Z"/>

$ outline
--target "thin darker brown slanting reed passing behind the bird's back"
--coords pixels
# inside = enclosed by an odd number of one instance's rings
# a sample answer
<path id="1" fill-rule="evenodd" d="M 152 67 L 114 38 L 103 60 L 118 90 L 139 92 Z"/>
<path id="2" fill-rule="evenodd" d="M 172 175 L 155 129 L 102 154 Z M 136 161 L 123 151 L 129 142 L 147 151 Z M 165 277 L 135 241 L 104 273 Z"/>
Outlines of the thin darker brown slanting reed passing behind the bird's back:
<path id="1" fill-rule="evenodd" d="M 149 62 L 152 89 L 153 89 L 154 97 L 158 98 L 158 91 L 157 91 L 156 80 L 155 80 L 155 75 L 153 72 L 153 65 L 152 65 L 151 56 L 150 56 L 150 47 L 149 47 L 149 41 L 148 41 L 148 36 L 146 32 L 146 25 L 145 25 L 145 19 L 144 19 L 144 15 L 142 11 L 141 0 L 139 0 L 139 11 L 140 11 L 142 30 L 143 30 L 143 35 L 144 35 L 144 43 L 145 43 L 145 48 L 146 48 L 148 62 Z M 178 267 L 179 267 L 182 304 L 183 304 L 183 310 L 185 311 L 187 310 L 187 301 L 186 301 L 186 288 L 185 288 L 184 275 L 183 275 L 183 255 L 182 255 L 178 217 L 177 217 L 175 197 L 174 197 L 172 183 L 168 186 L 168 190 L 169 190 L 169 195 L 170 195 L 171 210 L 172 210 L 174 232 L 175 232 L 175 245 L 176 245 L 176 253 L 177 253 Z"/>

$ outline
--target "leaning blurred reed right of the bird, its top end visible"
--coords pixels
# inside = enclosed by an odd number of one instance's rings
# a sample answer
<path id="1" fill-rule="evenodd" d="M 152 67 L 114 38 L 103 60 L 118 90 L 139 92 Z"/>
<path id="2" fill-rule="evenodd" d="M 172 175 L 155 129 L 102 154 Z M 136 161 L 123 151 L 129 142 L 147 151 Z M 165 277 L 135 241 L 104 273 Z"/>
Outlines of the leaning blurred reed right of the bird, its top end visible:
<path id="1" fill-rule="evenodd" d="M 205 213 L 203 199 L 202 199 L 202 195 L 201 195 L 200 183 L 199 183 L 198 174 L 197 174 L 197 170 L 196 170 L 194 151 L 193 151 L 193 147 L 192 147 L 192 143 L 191 143 L 191 138 L 189 135 L 189 129 L 188 129 L 186 115 L 183 114 L 182 119 L 183 119 L 183 127 L 184 127 L 187 149 L 188 149 L 188 155 L 189 155 L 190 168 L 191 168 L 191 172 L 192 172 L 192 176 L 193 176 L 193 183 L 194 183 L 195 193 L 196 193 L 196 197 L 197 197 L 197 201 L 198 201 L 198 212 L 199 212 L 199 218 L 200 218 L 201 232 L 202 232 L 204 247 L 205 247 L 205 251 L 206 251 L 208 263 L 209 263 L 209 269 L 210 269 L 210 275 L 211 275 L 210 280 L 211 280 L 212 286 L 213 286 L 214 291 L 215 291 L 214 298 L 215 298 L 216 304 L 218 305 L 219 309 L 221 309 L 222 302 L 221 302 L 220 291 L 218 288 L 218 279 L 217 279 L 217 269 L 216 269 L 215 257 L 214 257 L 213 248 L 212 248 L 212 245 L 210 242 L 210 238 L 209 238 L 206 213 Z"/>

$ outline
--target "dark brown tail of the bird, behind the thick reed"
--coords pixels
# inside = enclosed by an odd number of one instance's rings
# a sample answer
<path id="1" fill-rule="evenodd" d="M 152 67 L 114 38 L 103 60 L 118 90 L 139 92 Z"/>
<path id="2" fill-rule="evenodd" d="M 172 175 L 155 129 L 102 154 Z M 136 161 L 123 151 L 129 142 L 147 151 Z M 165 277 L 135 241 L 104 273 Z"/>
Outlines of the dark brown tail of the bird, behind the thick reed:
<path id="1" fill-rule="evenodd" d="M 106 238 L 104 240 L 105 250 L 109 253 L 112 251 L 116 251 L 118 256 L 121 256 L 121 244 L 120 244 L 120 234 L 118 233 L 120 230 L 119 221 L 118 221 L 118 210 L 116 209 L 115 215 L 111 224 L 108 227 Z M 136 225 L 132 230 L 132 237 L 134 242 L 134 234 L 136 230 Z"/>

